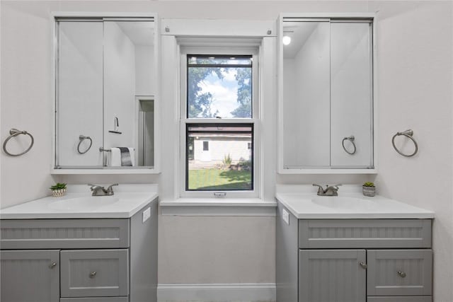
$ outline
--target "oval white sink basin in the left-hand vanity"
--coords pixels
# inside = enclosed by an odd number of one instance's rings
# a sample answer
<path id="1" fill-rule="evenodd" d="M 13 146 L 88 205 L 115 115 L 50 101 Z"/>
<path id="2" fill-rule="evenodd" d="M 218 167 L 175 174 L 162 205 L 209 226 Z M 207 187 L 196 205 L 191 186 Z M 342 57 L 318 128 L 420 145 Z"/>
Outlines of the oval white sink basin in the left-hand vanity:
<path id="1" fill-rule="evenodd" d="M 113 196 L 74 197 L 51 202 L 48 207 L 55 210 L 79 211 L 81 209 L 98 209 L 115 204 L 119 200 L 119 198 Z"/>

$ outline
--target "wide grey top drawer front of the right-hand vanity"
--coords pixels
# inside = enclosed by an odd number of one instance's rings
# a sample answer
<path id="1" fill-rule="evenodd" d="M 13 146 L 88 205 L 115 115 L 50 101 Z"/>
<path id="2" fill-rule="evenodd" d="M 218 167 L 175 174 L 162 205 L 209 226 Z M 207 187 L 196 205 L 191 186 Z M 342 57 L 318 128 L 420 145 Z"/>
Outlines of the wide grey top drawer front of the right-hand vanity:
<path id="1" fill-rule="evenodd" d="M 430 219 L 299 219 L 299 248 L 430 247 Z"/>

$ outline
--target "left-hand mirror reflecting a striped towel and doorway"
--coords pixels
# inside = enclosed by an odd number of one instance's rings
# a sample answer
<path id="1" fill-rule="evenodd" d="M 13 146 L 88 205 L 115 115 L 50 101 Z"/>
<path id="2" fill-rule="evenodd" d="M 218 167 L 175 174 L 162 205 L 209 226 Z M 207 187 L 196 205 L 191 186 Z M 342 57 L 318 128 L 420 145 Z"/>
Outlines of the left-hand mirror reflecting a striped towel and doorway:
<path id="1" fill-rule="evenodd" d="M 152 18 L 57 19 L 55 168 L 153 168 Z"/>

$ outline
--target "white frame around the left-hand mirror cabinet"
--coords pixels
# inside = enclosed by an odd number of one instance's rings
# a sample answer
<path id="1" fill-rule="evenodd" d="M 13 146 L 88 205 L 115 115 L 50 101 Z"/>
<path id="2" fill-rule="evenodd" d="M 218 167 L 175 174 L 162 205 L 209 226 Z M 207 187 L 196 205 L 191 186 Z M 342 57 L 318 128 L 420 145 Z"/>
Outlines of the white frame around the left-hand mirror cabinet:
<path id="1" fill-rule="evenodd" d="M 154 21 L 154 60 L 156 62 L 156 69 L 154 70 L 156 79 L 156 91 L 154 93 L 154 166 L 153 167 L 134 167 L 134 168 L 108 168 L 108 167 L 93 167 L 93 168 L 56 168 L 57 163 L 57 96 L 56 96 L 56 82 L 57 82 L 57 18 L 125 18 L 125 21 L 137 21 L 137 18 L 152 18 Z M 109 12 L 52 12 L 50 13 L 50 48 L 51 54 L 51 72 L 50 82 L 52 91 L 52 166 L 50 167 L 51 175 L 74 175 L 74 174 L 159 174 L 160 170 L 160 71 L 161 62 L 160 56 L 160 28 L 159 18 L 157 13 L 109 13 Z"/>

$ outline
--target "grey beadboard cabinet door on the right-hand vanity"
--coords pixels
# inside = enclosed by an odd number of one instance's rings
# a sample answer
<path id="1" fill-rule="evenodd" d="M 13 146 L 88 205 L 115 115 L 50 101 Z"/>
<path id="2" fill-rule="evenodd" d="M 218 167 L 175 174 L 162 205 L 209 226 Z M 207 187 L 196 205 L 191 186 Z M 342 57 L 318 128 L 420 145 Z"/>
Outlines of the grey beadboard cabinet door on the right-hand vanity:
<path id="1" fill-rule="evenodd" d="M 365 302 L 365 263 L 365 250 L 299 250 L 299 302 Z"/>

